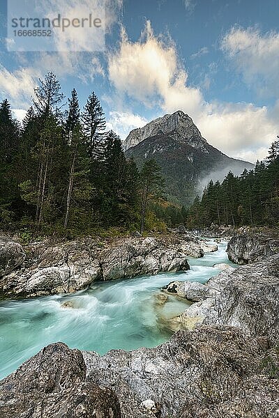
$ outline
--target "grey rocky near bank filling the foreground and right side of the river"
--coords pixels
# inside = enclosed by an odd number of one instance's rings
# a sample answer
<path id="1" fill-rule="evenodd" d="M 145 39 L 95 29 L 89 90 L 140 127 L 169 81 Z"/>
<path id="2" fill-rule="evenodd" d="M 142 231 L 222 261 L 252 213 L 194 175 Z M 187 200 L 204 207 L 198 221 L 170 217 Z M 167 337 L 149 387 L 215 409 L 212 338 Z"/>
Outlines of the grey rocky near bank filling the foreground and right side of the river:
<path id="1" fill-rule="evenodd" d="M 239 242 L 229 246 L 239 251 Z M 173 320 L 188 330 L 162 346 L 103 357 L 61 343 L 43 349 L 0 383 L 0 415 L 278 418 L 279 253 L 222 270 L 205 285 L 167 286 L 195 302 Z"/>

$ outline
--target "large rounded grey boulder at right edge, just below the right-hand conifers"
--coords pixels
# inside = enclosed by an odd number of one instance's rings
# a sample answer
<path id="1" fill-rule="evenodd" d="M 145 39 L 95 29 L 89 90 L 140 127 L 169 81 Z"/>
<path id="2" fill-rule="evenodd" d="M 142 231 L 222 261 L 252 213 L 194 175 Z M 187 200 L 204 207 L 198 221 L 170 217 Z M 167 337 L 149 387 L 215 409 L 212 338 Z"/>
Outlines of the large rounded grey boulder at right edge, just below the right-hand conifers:
<path id="1" fill-rule="evenodd" d="M 279 239 L 264 233 L 240 233 L 227 245 L 227 255 L 236 264 L 254 263 L 279 252 Z"/>

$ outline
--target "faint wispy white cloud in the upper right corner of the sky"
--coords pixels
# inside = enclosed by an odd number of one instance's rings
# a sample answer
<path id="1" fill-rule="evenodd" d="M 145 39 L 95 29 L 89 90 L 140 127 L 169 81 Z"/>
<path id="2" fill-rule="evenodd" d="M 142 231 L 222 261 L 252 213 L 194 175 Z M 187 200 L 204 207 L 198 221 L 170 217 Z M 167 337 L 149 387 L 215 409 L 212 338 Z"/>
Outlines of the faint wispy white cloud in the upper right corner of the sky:
<path id="1" fill-rule="evenodd" d="M 221 47 L 248 85 L 259 94 L 278 95 L 279 33 L 262 35 L 257 29 L 234 27 Z"/>

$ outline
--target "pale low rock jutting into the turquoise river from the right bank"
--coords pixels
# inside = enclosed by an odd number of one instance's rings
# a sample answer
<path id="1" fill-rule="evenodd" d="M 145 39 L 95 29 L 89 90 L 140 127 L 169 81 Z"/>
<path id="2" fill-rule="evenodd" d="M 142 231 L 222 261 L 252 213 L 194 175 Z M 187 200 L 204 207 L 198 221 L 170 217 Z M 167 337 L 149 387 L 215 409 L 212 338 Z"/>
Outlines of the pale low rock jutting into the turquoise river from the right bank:
<path id="1" fill-rule="evenodd" d="M 164 286 L 164 291 L 175 293 L 179 297 L 185 297 L 193 302 L 200 302 L 207 297 L 212 297 L 216 291 L 198 281 L 172 281 L 172 283 Z"/>

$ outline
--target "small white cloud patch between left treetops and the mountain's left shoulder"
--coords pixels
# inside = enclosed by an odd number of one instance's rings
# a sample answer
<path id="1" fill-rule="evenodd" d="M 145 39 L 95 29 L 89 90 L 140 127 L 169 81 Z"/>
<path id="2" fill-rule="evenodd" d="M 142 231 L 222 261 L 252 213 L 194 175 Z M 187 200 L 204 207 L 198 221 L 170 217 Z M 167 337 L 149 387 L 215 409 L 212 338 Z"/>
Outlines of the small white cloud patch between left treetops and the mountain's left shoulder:
<path id="1" fill-rule="evenodd" d="M 126 139 L 131 130 L 146 125 L 148 121 L 140 115 L 128 112 L 110 111 L 107 130 L 113 130 L 121 139 Z"/>

